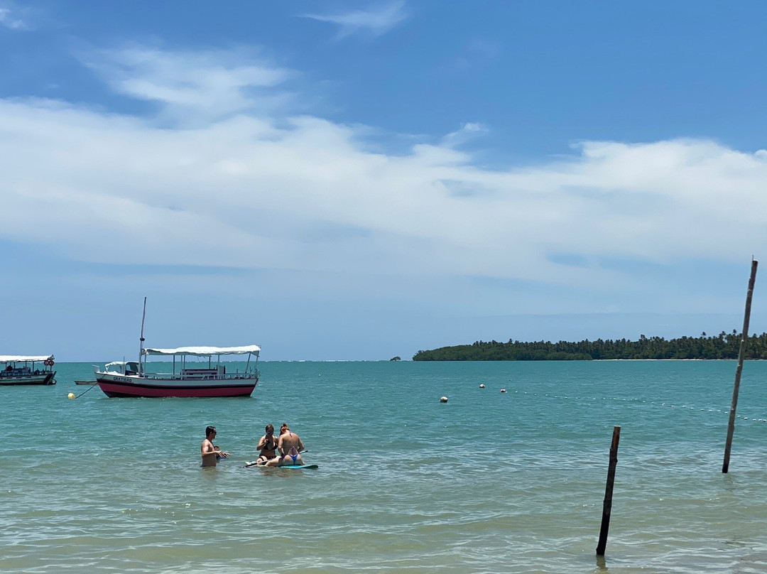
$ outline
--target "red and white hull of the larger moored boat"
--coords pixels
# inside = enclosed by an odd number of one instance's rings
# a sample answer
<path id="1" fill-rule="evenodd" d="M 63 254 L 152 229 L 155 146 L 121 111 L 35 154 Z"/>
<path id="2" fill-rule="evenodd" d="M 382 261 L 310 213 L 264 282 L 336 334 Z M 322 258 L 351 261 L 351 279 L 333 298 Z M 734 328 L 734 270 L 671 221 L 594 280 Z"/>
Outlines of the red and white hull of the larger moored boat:
<path id="1" fill-rule="evenodd" d="M 183 380 L 97 374 L 96 383 L 111 398 L 249 397 L 258 378 Z"/>

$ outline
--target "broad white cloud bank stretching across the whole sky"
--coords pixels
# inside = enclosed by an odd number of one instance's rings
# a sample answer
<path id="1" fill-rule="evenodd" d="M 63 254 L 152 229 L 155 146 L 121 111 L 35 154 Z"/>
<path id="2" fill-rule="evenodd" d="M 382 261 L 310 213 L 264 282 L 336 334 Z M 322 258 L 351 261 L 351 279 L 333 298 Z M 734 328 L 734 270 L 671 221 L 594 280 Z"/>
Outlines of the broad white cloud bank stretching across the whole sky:
<path id="1" fill-rule="evenodd" d="M 571 157 L 489 170 L 457 147 L 485 129 L 465 124 L 406 155 L 371 153 L 364 130 L 259 107 L 258 91 L 243 87 L 279 96 L 279 68 L 221 52 L 151 53 L 156 63 L 140 49 L 108 53 L 106 69 L 123 66 L 112 85 L 161 101 L 161 114 L 209 119 L 169 128 L 61 101 L 0 100 L 0 236 L 91 262 L 481 275 L 606 291 L 638 288 L 601 259 L 732 262 L 767 244 L 764 151 L 584 142 Z"/>

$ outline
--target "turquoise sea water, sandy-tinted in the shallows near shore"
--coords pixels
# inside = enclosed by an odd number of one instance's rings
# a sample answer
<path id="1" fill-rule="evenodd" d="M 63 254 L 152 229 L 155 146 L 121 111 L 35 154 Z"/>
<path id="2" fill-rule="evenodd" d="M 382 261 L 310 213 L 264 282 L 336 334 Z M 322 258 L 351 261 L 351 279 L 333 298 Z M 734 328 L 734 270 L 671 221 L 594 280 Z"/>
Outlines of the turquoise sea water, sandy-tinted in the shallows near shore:
<path id="1" fill-rule="evenodd" d="M 0 387 L 2 572 L 767 571 L 767 362 L 728 474 L 735 361 L 262 362 L 221 399 L 110 399 L 56 368 Z M 243 468 L 283 421 L 318 470 Z M 209 424 L 232 458 L 202 468 Z"/>

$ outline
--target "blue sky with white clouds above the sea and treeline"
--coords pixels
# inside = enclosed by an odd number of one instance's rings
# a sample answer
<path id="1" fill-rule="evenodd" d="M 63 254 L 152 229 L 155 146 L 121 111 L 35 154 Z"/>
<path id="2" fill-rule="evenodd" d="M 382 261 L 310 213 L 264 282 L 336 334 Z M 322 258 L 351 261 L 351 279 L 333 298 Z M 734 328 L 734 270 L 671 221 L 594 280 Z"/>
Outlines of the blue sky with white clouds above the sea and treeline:
<path id="1" fill-rule="evenodd" d="M 0 354 L 131 357 L 144 297 L 147 345 L 266 361 L 740 330 L 765 21 L 0 0 Z"/>

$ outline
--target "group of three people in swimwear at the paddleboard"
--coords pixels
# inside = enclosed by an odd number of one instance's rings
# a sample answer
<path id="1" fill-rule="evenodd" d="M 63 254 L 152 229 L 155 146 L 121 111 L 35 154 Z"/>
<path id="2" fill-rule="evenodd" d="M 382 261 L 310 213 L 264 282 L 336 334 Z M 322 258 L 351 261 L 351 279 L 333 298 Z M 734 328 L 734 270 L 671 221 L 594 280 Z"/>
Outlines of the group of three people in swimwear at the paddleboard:
<path id="1" fill-rule="evenodd" d="M 275 437 L 275 427 L 272 424 L 266 425 L 266 432 L 263 437 L 258 439 L 258 459 L 254 464 L 248 466 L 263 467 L 292 467 L 302 466 L 304 460 L 301 453 L 306 449 L 301 437 L 288 428 L 288 423 L 282 423 L 280 434 Z M 205 440 L 200 445 L 203 467 L 215 467 L 219 459 L 229 458 L 231 455 L 213 444 L 216 438 L 216 427 L 207 427 L 205 429 Z"/>

